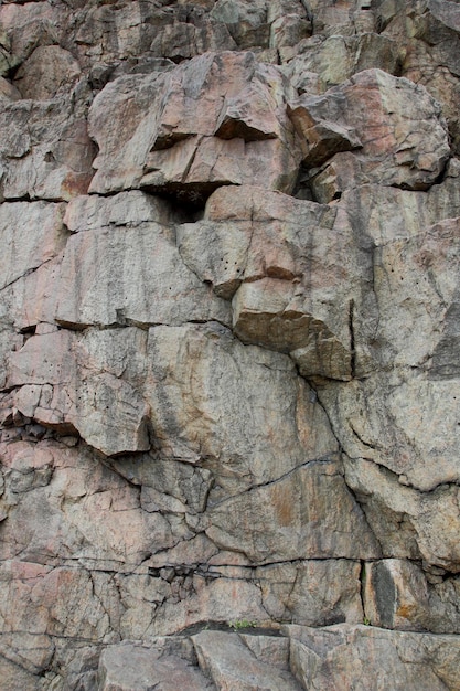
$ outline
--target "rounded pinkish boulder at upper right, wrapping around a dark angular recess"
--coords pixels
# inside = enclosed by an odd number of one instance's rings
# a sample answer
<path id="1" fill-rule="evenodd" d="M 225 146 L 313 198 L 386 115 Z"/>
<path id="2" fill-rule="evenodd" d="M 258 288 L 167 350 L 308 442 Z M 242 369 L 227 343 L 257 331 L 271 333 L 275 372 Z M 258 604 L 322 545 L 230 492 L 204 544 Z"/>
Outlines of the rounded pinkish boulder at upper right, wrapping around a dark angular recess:
<path id="1" fill-rule="evenodd" d="M 418 108 L 413 119 L 407 114 L 414 100 Z M 319 201 L 368 182 L 424 190 L 442 172 L 450 152 L 447 126 L 439 104 L 421 86 L 381 70 L 365 70 L 322 98 L 302 96 L 292 107 L 298 117 L 304 109 L 307 118 L 312 110 L 317 118 L 330 120 L 336 118 L 339 105 L 339 124 L 354 128 L 362 149 L 335 153 L 313 174 Z"/>

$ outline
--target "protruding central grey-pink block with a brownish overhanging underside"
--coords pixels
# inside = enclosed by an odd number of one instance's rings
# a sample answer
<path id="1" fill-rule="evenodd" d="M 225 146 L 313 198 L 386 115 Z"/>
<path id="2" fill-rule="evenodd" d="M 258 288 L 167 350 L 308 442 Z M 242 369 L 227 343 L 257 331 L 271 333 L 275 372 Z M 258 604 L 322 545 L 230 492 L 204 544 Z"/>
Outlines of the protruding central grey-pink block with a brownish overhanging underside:
<path id="1" fill-rule="evenodd" d="M 202 223 L 179 227 L 178 243 L 217 295 L 233 296 L 233 326 L 244 342 L 289 352 L 302 374 L 350 379 L 350 305 L 361 300 L 368 262 L 334 210 L 222 188 Z"/>

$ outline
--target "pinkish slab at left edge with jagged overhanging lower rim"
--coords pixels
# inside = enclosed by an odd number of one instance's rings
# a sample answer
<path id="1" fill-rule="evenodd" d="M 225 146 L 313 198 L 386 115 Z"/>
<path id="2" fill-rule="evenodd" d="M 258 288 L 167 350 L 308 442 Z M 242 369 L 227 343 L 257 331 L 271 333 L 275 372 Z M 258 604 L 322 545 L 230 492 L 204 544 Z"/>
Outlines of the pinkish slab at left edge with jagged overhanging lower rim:
<path id="1" fill-rule="evenodd" d="M 10 355 L 7 386 L 22 386 L 17 405 L 28 417 L 64 433 L 77 430 L 104 454 L 147 450 L 148 407 L 130 383 L 118 379 L 130 351 L 137 353 L 142 341 L 145 348 L 145 334 L 136 329 L 114 334 L 118 352 L 114 341 L 107 352 L 107 336 L 82 338 L 65 330 L 34 336 Z M 128 372 L 135 369 L 131 360 Z M 114 417 L 107 427 L 109 411 Z"/>

